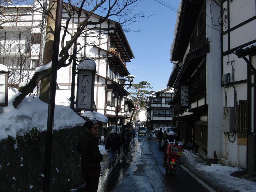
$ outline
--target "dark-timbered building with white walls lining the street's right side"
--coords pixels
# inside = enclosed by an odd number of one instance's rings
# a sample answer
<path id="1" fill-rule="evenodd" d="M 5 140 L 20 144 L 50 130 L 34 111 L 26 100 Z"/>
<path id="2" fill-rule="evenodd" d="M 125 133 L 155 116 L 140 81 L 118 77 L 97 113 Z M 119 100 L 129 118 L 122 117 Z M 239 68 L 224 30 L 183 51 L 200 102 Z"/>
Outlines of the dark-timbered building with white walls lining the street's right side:
<path id="1" fill-rule="evenodd" d="M 218 159 L 254 172 L 255 5 L 250 0 L 183 0 L 167 84 L 175 89 L 170 103 L 186 144 L 209 163 L 216 152 Z"/>

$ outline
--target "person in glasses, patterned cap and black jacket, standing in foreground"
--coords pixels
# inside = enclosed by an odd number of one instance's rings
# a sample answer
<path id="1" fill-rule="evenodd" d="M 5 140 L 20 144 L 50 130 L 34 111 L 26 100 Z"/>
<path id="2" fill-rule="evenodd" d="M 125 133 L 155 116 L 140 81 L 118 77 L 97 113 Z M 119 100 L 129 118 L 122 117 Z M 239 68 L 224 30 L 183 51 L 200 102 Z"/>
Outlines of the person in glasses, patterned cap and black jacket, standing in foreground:
<path id="1" fill-rule="evenodd" d="M 97 192 L 103 155 L 99 150 L 100 124 L 95 119 L 84 123 L 85 133 L 78 142 L 76 150 L 81 153 L 81 169 L 86 183 L 86 191 Z"/>

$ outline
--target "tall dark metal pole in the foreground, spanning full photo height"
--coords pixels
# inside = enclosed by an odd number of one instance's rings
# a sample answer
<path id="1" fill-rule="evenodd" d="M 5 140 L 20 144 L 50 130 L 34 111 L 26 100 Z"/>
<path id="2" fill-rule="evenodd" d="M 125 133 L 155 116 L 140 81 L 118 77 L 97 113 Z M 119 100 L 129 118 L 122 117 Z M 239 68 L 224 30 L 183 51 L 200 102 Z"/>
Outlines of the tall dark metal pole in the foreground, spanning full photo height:
<path id="1" fill-rule="evenodd" d="M 44 171 L 44 192 L 50 191 L 50 176 L 51 176 L 51 153 L 52 153 L 52 134 L 54 126 L 54 109 L 55 109 L 55 95 L 56 82 L 58 71 L 58 52 L 60 44 L 60 29 L 62 17 L 63 1 L 57 0 L 56 22 L 53 41 L 52 65 L 51 65 L 51 79 L 50 79 L 50 95 L 48 105 L 48 119 L 46 131 L 46 145 L 45 145 L 45 171 Z"/>

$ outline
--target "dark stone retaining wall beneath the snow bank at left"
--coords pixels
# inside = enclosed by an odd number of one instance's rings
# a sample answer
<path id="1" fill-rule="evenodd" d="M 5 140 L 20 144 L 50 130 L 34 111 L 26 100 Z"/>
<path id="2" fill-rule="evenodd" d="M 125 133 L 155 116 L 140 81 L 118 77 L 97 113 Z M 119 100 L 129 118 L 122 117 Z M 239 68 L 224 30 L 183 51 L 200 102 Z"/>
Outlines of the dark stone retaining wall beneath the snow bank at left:
<path id="1" fill-rule="evenodd" d="M 54 131 L 50 191 L 68 191 L 84 184 L 80 154 L 75 150 L 82 126 Z M 0 142 L 0 192 L 43 191 L 46 132 L 34 142 L 15 149 L 8 139 Z"/>

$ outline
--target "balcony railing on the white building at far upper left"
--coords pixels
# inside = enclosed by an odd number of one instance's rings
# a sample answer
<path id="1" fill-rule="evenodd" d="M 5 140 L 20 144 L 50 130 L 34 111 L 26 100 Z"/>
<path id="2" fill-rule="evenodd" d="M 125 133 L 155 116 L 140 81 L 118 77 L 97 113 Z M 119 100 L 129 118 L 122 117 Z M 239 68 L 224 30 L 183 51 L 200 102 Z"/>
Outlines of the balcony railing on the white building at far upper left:
<path id="1" fill-rule="evenodd" d="M 0 52 L 28 53 L 29 44 L 0 44 Z"/>

